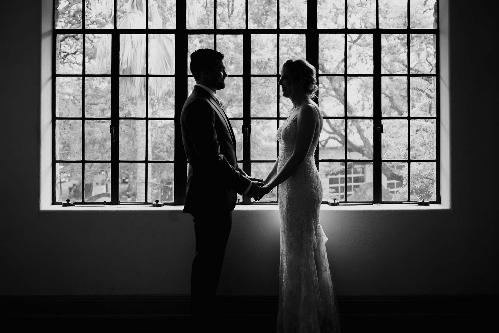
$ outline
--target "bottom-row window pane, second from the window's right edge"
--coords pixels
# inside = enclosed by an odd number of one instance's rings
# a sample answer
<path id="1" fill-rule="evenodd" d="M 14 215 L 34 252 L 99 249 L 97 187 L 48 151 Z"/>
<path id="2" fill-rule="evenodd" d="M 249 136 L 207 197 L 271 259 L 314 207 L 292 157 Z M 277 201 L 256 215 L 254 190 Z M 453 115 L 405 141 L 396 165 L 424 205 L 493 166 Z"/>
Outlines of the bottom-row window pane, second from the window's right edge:
<path id="1" fill-rule="evenodd" d="M 408 201 L 407 163 L 383 162 L 381 168 L 381 194 L 383 201 Z"/>

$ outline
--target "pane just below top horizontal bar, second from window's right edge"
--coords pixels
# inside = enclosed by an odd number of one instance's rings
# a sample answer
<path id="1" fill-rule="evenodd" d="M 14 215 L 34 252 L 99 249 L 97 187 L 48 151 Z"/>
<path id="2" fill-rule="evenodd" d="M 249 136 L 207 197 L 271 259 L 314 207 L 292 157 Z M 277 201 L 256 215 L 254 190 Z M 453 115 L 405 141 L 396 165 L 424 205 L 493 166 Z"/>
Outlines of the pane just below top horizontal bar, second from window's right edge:
<path id="1" fill-rule="evenodd" d="M 381 35 L 381 73 L 407 73 L 407 34 Z"/>

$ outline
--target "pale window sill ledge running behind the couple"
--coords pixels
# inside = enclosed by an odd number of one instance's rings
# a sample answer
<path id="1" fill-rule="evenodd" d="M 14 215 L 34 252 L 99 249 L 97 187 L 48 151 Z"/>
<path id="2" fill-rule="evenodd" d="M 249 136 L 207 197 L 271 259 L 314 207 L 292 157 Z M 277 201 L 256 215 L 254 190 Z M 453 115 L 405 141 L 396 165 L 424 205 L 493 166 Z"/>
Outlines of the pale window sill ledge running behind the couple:
<path id="1" fill-rule="evenodd" d="M 63 207 L 62 205 L 49 205 L 47 207 L 41 207 L 40 211 L 42 212 L 87 212 L 87 211 L 162 211 L 162 212 L 180 212 L 184 206 L 162 206 L 162 207 L 153 207 L 153 206 L 144 206 L 144 205 L 102 205 L 102 206 L 72 206 L 72 207 Z M 374 204 L 374 205 L 365 205 L 365 206 L 347 206 L 347 205 L 339 205 L 339 206 L 329 206 L 327 204 L 322 204 L 320 207 L 321 211 L 414 211 L 414 210 L 446 210 L 450 209 L 448 205 L 443 204 L 430 204 L 429 206 L 420 206 L 416 204 Z M 277 204 L 269 204 L 269 205 L 236 205 L 234 211 L 239 212 L 255 212 L 255 211 L 278 211 L 279 206 Z"/>

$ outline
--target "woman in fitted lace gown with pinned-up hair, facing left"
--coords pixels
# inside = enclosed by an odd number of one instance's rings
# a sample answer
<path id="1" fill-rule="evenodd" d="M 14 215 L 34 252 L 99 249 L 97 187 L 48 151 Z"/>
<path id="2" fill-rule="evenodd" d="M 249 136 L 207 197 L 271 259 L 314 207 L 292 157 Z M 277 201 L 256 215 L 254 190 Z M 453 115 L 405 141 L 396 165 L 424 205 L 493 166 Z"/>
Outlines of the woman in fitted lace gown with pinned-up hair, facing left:
<path id="1" fill-rule="evenodd" d="M 322 115 L 311 97 L 315 68 L 288 60 L 281 70 L 282 95 L 293 102 L 277 130 L 279 156 L 260 189 L 279 186 L 280 267 L 277 332 L 340 332 L 339 315 L 319 224 L 322 185 L 314 151 Z"/>

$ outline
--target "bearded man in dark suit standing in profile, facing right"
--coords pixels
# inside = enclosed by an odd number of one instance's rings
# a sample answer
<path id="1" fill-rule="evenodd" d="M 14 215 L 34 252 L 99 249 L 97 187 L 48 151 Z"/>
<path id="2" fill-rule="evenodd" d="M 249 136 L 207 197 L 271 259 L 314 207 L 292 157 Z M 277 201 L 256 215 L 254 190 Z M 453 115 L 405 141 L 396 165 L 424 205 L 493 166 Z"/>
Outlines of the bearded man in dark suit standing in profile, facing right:
<path id="1" fill-rule="evenodd" d="M 215 324 L 215 296 L 232 226 L 237 193 L 258 197 L 261 179 L 238 167 L 236 138 L 217 98 L 225 88 L 224 54 L 203 48 L 191 54 L 196 80 L 181 114 L 182 141 L 189 161 L 184 213 L 194 218 L 196 256 L 191 272 L 192 316 L 203 331 Z"/>

